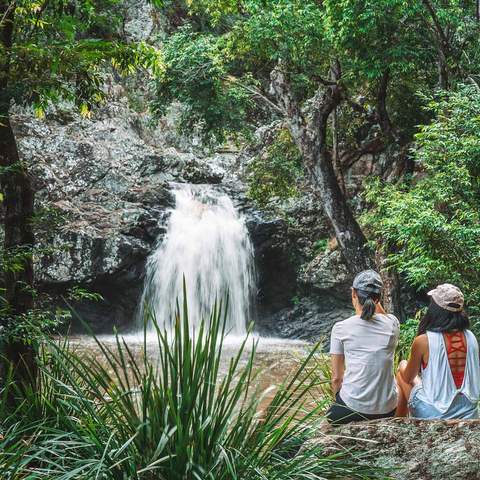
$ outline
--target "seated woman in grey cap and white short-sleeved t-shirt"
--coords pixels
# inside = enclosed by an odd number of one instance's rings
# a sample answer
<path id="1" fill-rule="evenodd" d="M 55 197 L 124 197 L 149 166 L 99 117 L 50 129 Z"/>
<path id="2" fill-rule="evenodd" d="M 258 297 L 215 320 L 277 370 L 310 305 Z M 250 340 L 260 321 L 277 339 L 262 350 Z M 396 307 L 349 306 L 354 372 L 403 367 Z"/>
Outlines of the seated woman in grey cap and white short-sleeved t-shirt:
<path id="1" fill-rule="evenodd" d="M 373 270 L 359 273 L 352 286 L 355 315 L 337 322 L 331 334 L 332 389 L 327 412 L 332 424 L 395 415 L 397 387 L 393 359 L 400 328 L 383 309 L 383 283 Z"/>

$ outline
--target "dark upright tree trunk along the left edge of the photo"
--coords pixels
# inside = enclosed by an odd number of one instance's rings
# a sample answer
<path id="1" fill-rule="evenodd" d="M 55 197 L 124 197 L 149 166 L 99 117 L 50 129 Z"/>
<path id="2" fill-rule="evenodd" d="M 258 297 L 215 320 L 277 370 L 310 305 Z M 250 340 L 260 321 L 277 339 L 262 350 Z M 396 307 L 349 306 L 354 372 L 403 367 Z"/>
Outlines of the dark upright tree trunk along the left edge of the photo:
<path id="1" fill-rule="evenodd" d="M 0 42 L 6 55 L 0 59 L 0 183 L 3 193 L 4 252 L 8 261 L 20 255 L 21 268 L 4 271 L 5 299 L 8 312 L 0 319 L 3 327 L 21 318 L 33 308 L 33 245 L 32 217 L 34 194 L 25 167 L 20 162 L 15 135 L 10 123 L 9 52 L 13 44 L 15 8 L 0 1 Z M 14 378 L 28 387 L 35 384 L 33 347 L 20 339 L 7 338 L 3 355 L 14 368 Z M 10 367 L 10 365 L 7 365 Z M 0 372 L 5 374 L 5 370 Z M 3 376 L 3 375 L 2 375 Z"/>

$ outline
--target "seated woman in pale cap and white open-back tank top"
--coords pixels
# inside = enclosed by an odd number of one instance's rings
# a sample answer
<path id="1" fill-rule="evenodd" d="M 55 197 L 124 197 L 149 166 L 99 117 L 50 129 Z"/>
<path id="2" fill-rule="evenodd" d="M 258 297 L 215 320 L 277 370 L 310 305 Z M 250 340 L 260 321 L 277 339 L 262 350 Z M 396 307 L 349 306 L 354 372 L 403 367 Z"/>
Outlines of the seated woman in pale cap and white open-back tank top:
<path id="1" fill-rule="evenodd" d="M 415 418 L 478 418 L 480 358 L 463 294 L 445 283 L 428 295 L 410 359 L 399 365 L 397 416 L 410 411 Z"/>

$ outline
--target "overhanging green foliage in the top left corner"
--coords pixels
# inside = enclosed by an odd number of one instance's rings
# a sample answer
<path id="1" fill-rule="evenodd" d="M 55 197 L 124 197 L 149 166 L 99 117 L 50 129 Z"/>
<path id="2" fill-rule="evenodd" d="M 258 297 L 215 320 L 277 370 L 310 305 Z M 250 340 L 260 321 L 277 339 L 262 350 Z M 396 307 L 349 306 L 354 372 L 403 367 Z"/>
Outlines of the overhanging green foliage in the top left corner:
<path id="1" fill-rule="evenodd" d="M 1 101 L 32 105 L 42 116 L 66 99 L 87 115 L 105 96 L 105 66 L 121 73 L 158 66 L 154 49 L 120 39 L 119 0 L 2 3 L 0 27 L 7 29 L 11 17 L 13 31 L 11 46 L 0 43 L 0 67 L 8 62 Z"/>

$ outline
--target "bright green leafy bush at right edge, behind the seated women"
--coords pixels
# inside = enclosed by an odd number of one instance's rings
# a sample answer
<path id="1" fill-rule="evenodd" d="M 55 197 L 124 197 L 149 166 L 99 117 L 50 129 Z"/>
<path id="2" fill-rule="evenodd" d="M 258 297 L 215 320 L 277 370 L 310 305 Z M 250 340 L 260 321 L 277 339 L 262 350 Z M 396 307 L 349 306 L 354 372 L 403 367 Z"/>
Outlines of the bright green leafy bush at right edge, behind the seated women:
<path id="1" fill-rule="evenodd" d="M 364 219 L 392 266 L 417 289 L 459 285 L 480 312 L 480 89 L 429 102 L 434 120 L 416 135 L 422 172 L 396 186 L 374 182 Z"/>

